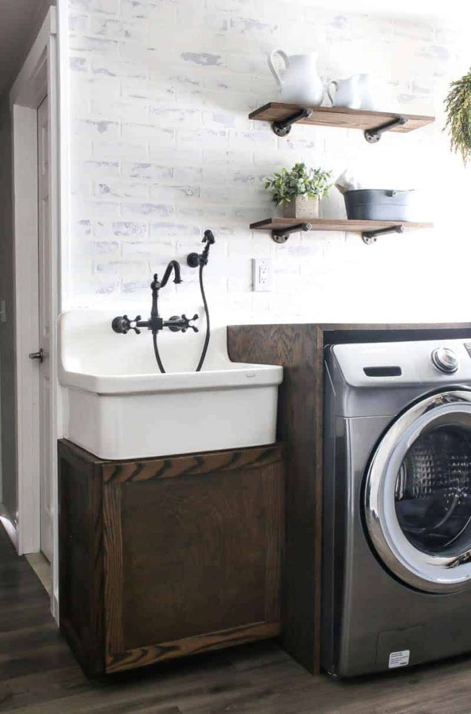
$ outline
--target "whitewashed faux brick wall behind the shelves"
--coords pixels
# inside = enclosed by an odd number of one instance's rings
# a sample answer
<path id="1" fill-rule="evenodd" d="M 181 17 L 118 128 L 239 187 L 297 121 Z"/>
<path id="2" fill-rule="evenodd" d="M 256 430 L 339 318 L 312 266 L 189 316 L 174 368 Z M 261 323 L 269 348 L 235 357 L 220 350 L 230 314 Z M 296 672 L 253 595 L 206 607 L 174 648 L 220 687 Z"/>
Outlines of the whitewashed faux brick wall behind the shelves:
<path id="1" fill-rule="evenodd" d="M 151 274 L 171 258 L 184 261 L 211 228 L 208 293 L 228 321 L 469 320 L 471 169 L 450 154 L 442 133 L 447 87 L 470 64 L 467 37 L 438 21 L 315 4 L 69 0 L 69 307 L 148 301 Z M 303 126 L 277 139 L 268 124 L 247 119 L 276 99 L 266 62 L 276 46 L 318 51 L 326 81 L 373 71 L 395 106 L 436 114 L 437 122 L 388 134 L 377 146 L 358 131 Z M 335 174 L 368 169 L 385 188 L 421 187 L 422 217 L 436 227 L 375 246 L 353 233 L 295 235 L 276 246 L 248 224 L 274 213 L 263 177 L 295 161 Z M 337 191 L 323 214 L 344 217 Z M 273 292 L 252 292 L 253 257 L 273 258 Z M 189 273 L 178 293 L 193 305 L 199 297 Z"/>

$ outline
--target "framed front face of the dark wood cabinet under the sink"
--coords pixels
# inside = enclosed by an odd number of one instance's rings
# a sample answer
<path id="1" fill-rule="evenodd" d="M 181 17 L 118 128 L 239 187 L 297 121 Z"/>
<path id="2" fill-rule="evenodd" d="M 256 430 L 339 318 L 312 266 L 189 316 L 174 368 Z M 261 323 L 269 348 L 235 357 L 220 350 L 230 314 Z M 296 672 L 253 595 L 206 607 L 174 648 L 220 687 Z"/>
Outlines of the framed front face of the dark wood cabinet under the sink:
<path id="1" fill-rule="evenodd" d="M 241 468 L 104 486 L 108 671 L 279 632 L 284 478 L 274 448 L 265 461 L 253 449 Z"/>

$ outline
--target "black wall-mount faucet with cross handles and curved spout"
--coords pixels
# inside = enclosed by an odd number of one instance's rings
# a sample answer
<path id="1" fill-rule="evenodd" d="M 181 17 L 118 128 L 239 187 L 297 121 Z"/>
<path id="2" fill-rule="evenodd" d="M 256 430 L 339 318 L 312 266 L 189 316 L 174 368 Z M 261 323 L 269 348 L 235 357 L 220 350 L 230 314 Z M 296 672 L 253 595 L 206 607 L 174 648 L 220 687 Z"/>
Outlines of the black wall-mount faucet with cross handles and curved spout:
<path id="1" fill-rule="evenodd" d="M 180 276 L 180 263 L 178 263 L 178 261 L 170 261 L 170 263 L 168 263 L 168 266 L 166 267 L 165 273 L 163 273 L 163 278 L 161 281 L 158 280 L 157 273 L 154 273 L 153 281 L 151 283 L 151 317 L 148 320 L 143 320 L 141 318 L 141 315 L 136 315 L 136 317 L 131 320 L 130 318 L 128 318 L 127 315 L 120 315 L 118 317 L 115 317 L 111 323 L 113 331 L 126 335 L 130 330 L 133 330 L 134 332 L 136 332 L 137 335 L 139 335 L 141 333 L 141 330 L 139 328 L 147 328 L 152 332 L 153 335 L 156 335 L 158 331 L 163 330 L 163 328 L 167 327 L 172 332 L 186 332 L 188 328 L 194 330 L 195 332 L 198 332 L 198 328 L 191 324 L 195 320 L 198 320 L 198 315 L 193 315 L 192 318 L 187 318 L 185 314 L 181 316 L 173 315 L 168 320 L 163 320 L 163 318 L 161 318 L 161 316 L 158 314 L 158 291 L 160 291 L 162 288 L 165 288 L 172 271 L 175 273 L 173 282 L 178 285 L 178 283 L 182 282 Z"/>

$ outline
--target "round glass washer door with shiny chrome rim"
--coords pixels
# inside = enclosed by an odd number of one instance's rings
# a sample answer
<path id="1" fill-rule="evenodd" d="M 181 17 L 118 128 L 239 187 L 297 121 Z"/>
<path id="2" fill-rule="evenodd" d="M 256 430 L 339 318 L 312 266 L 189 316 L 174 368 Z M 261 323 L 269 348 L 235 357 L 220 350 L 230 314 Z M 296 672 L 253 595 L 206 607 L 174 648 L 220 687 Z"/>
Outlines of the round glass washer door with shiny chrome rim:
<path id="1" fill-rule="evenodd" d="M 397 578 L 430 593 L 471 587 L 471 391 L 402 413 L 373 454 L 364 498 L 370 539 Z"/>

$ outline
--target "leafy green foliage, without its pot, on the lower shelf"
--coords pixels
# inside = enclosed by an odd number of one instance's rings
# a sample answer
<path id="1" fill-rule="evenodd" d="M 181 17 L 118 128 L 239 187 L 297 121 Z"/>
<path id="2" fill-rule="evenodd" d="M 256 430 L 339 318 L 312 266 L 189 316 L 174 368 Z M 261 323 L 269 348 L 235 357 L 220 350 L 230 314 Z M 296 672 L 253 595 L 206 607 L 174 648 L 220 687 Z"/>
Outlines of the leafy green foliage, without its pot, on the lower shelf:
<path id="1" fill-rule="evenodd" d="M 295 164 L 293 169 L 281 169 L 265 179 L 265 188 L 277 206 L 283 206 L 296 196 L 315 198 L 327 196 L 333 186 L 331 171 L 306 169 L 305 164 Z"/>

